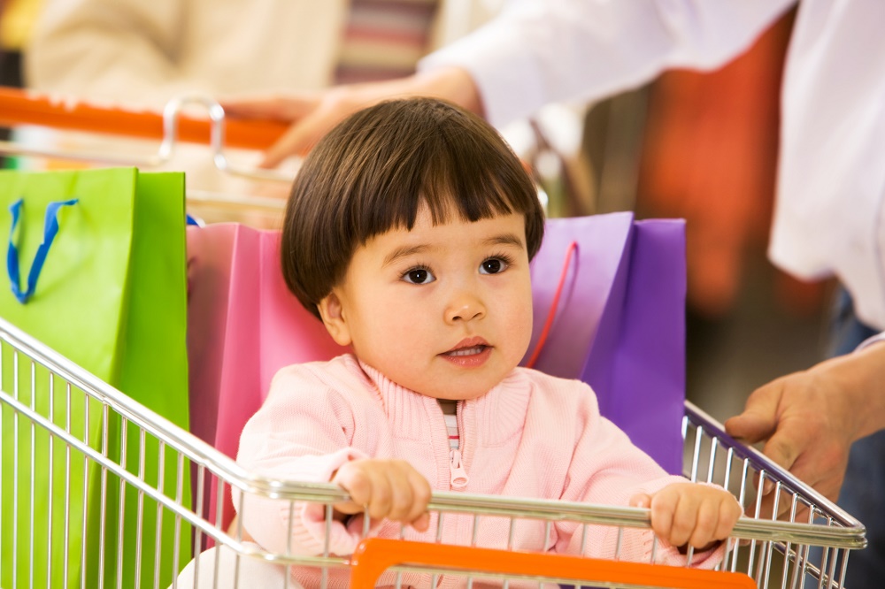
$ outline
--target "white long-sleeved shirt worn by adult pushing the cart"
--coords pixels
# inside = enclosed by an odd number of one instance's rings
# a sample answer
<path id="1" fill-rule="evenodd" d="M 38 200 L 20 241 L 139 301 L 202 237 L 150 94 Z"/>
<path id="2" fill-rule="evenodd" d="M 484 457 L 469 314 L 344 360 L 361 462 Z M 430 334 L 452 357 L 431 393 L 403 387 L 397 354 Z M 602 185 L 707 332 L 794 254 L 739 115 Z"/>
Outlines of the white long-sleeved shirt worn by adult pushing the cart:
<path id="1" fill-rule="evenodd" d="M 420 68 L 466 69 L 500 126 L 551 101 L 634 88 L 670 67 L 722 65 L 792 4 L 518 0 Z M 885 329 L 883 24 L 881 0 L 799 3 L 781 96 L 769 248 L 773 263 L 798 278 L 836 276 L 858 317 L 877 329 Z"/>

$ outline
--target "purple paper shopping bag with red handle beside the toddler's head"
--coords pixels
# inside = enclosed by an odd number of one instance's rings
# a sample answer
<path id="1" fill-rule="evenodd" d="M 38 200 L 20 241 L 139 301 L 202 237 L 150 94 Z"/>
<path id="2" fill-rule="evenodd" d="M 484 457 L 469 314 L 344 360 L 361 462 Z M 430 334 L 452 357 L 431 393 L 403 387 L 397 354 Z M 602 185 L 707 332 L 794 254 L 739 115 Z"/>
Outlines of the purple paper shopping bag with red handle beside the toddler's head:
<path id="1" fill-rule="evenodd" d="M 587 382 L 602 414 L 672 473 L 682 464 L 685 289 L 685 224 L 677 219 L 549 219 L 532 261 L 526 361 L 536 356 L 536 369 Z"/>

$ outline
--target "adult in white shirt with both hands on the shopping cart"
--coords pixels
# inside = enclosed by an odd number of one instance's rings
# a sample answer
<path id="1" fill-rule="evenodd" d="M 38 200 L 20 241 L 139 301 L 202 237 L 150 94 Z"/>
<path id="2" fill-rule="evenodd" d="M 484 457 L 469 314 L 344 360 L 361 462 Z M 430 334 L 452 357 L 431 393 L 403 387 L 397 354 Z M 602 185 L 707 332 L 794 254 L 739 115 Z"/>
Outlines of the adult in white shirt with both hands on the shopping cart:
<path id="1" fill-rule="evenodd" d="M 424 58 L 416 75 L 325 93 L 244 97 L 225 107 L 291 123 L 266 152 L 268 167 L 310 149 L 350 112 L 392 96 L 448 99 L 501 126 L 550 101 L 635 88 L 668 68 L 715 68 L 795 4 L 524 0 Z M 839 497 L 866 524 L 870 547 L 852 555 L 846 580 L 855 588 L 879 587 L 885 578 L 882 22 L 885 3 L 798 3 L 781 89 L 769 257 L 797 278 L 841 282 L 831 334 L 841 356 L 758 388 L 743 414 L 727 422 L 729 432 L 765 442 L 775 462 Z"/>

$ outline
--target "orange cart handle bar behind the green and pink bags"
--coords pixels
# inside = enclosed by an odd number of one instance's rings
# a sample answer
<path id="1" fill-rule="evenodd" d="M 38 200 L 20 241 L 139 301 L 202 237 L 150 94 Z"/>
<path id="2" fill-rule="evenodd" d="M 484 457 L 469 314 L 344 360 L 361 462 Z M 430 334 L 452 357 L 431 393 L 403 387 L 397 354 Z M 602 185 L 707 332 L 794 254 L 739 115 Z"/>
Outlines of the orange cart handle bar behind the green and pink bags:
<path id="1" fill-rule="evenodd" d="M 158 112 L 60 102 L 17 88 L 0 88 L 0 126 L 19 125 L 163 139 L 163 116 Z M 181 115 L 178 138 L 183 142 L 208 144 L 210 128 L 207 119 Z M 286 125 L 278 121 L 226 119 L 225 146 L 266 149 L 285 130 Z"/>

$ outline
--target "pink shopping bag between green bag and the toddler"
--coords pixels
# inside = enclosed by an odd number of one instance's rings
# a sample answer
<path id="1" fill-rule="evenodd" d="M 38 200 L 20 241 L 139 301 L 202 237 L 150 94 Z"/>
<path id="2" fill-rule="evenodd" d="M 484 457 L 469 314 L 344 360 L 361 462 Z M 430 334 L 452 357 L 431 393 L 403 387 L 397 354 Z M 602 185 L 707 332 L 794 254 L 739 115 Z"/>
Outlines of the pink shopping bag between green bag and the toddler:
<path id="1" fill-rule="evenodd" d="M 278 231 L 188 227 L 191 432 L 231 457 L 276 371 L 345 351 L 289 293 L 279 247 Z M 207 480 L 204 493 L 214 517 L 217 487 Z M 233 515 L 228 496 L 224 526 Z"/>

